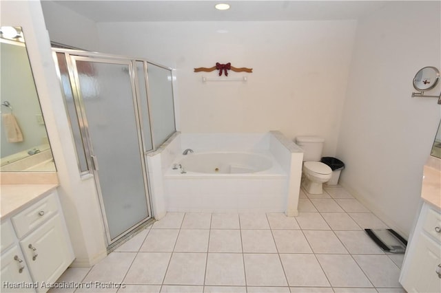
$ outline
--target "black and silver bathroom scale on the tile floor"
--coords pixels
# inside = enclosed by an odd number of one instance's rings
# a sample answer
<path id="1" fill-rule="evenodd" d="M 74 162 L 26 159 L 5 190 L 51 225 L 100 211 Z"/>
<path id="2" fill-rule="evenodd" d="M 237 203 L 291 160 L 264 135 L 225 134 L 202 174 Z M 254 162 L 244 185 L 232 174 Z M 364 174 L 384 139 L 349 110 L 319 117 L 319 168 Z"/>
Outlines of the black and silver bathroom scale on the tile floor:
<path id="1" fill-rule="evenodd" d="M 403 254 L 407 241 L 392 229 L 365 229 L 367 235 L 384 251 Z"/>

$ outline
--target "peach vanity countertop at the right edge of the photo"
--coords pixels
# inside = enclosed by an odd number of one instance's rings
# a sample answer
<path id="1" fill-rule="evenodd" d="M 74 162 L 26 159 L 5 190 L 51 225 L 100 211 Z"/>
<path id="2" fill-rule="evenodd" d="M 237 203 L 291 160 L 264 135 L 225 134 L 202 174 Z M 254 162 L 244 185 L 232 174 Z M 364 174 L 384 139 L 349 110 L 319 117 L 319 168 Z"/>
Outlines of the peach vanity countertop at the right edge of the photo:
<path id="1" fill-rule="evenodd" d="M 424 201 L 441 210 L 441 160 L 429 158 L 424 165 L 421 197 Z"/>

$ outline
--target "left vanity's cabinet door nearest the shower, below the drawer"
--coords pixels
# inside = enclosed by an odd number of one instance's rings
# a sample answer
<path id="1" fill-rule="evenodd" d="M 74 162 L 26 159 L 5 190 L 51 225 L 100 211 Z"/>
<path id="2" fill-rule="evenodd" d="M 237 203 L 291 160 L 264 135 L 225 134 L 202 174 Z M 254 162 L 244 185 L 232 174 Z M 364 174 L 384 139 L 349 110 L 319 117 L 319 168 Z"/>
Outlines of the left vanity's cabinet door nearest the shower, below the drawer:
<path id="1" fill-rule="evenodd" d="M 20 241 L 32 279 L 54 282 L 73 260 L 70 243 L 57 213 L 52 219 Z M 39 290 L 37 290 L 40 292 Z"/>

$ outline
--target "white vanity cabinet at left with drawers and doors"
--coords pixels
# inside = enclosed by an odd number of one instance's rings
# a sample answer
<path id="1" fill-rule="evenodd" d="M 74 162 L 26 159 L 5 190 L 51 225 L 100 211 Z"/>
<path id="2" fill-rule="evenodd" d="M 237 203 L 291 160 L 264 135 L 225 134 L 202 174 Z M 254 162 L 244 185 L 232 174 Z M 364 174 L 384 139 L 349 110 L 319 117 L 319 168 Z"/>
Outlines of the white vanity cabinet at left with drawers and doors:
<path id="1" fill-rule="evenodd" d="M 73 260 L 56 191 L 2 219 L 0 292 L 46 292 L 43 282 L 57 281 Z"/>

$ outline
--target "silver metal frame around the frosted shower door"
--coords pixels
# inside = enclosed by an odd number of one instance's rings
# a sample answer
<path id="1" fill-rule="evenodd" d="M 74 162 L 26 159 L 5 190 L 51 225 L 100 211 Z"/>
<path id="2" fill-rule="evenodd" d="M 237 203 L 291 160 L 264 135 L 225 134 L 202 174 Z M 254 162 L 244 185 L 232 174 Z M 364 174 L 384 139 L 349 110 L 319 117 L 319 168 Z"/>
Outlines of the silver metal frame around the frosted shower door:
<path id="1" fill-rule="evenodd" d="M 150 182 L 147 172 L 147 164 L 145 162 L 145 155 L 147 153 L 150 153 L 152 150 L 145 150 L 145 140 L 144 140 L 144 133 L 145 129 L 143 127 L 142 121 L 142 109 L 141 109 L 141 101 L 140 101 L 140 89 L 139 89 L 139 83 L 138 83 L 138 74 L 136 72 L 136 61 L 143 61 L 143 71 L 144 71 L 144 78 L 145 78 L 145 85 L 146 85 L 146 96 L 147 96 L 147 105 L 150 105 L 150 97 L 148 95 L 148 78 L 147 78 L 147 61 L 137 58 L 128 58 L 124 56 L 114 56 L 109 54 L 100 54 L 96 52 L 84 52 L 84 51 L 77 51 L 77 50 L 68 50 L 68 49 L 59 49 L 59 48 L 53 48 L 54 52 L 54 60 L 57 62 L 57 53 L 63 53 L 65 56 L 65 61 L 67 63 L 67 70 L 69 74 L 70 79 L 70 87 L 72 89 L 72 96 L 74 99 L 74 105 L 76 109 L 76 115 L 78 116 L 78 122 L 79 122 L 79 129 L 81 132 L 81 138 L 82 138 L 82 145 L 83 149 L 85 151 L 85 160 L 88 165 L 88 171 L 82 172 L 81 175 L 84 175 L 85 173 L 91 173 L 94 176 L 94 182 L 96 186 L 96 193 L 99 197 L 99 204 L 101 209 L 101 217 L 103 218 L 103 224 L 105 228 L 105 235 L 107 239 L 107 246 L 112 246 L 113 243 L 116 243 L 119 239 L 125 237 L 128 232 L 135 230 L 139 226 L 145 224 L 147 221 L 151 221 L 153 219 L 152 215 L 152 202 L 150 197 Z M 143 218 L 141 221 L 139 221 L 134 226 L 128 228 L 127 230 L 121 232 L 120 235 L 116 236 L 114 239 L 110 236 L 110 230 L 109 225 L 107 223 L 107 215 L 105 213 L 105 206 L 103 201 L 103 193 L 101 191 L 100 186 L 100 180 L 99 180 L 99 170 L 96 162 L 93 158 L 93 148 L 92 148 L 92 139 L 90 137 L 90 131 L 88 127 L 88 119 L 86 116 L 86 109 L 85 105 L 83 103 L 83 98 L 81 95 L 80 90 L 80 83 L 79 83 L 79 75 L 76 70 L 76 64 L 75 61 L 88 61 L 88 62 L 99 62 L 99 63 L 110 63 L 110 64 L 119 64 L 119 65 L 128 65 L 129 67 L 129 76 L 130 76 L 130 85 L 132 88 L 132 100 L 133 100 L 133 106 L 134 106 L 134 116 L 136 121 L 136 133 L 138 136 L 138 142 L 139 142 L 139 151 L 140 151 L 140 158 L 141 160 L 141 169 L 143 171 L 143 185 L 145 190 L 145 197 L 146 197 L 146 203 L 147 203 L 147 217 Z M 58 64 L 58 62 L 57 62 Z M 162 67 L 162 66 L 161 66 Z M 150 115 L 150 107 L 148 107 L 148 113 L 149 113 L 149 120 L 150 120 L 150 127 L 152 128 L 152 118 Z M 70 121 L 69 121 L 70 122 Z M 70 122 L 71 124 L 71 122 Z M 70 125 L 72 129 L 72 125 Z M 153 136 L 152 131 L 150 131 L 150 135 Z M 153 147 L 153 137 L 152 137 L 152 147 Z"/>

